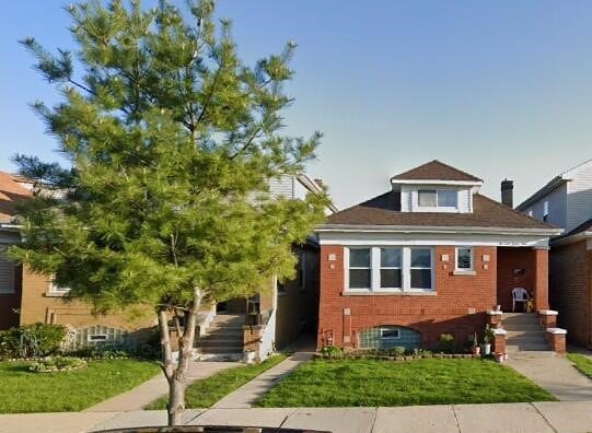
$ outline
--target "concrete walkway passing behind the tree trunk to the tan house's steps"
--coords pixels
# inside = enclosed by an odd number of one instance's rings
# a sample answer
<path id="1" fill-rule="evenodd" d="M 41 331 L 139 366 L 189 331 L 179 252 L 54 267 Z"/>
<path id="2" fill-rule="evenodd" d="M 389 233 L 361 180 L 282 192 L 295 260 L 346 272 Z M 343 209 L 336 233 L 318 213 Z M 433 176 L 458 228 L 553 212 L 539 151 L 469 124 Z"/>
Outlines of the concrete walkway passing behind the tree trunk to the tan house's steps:
<path id="1" fill-rule="evenodd" d="M 222 370 L 239 365 L 243 364 L 240 362 L 191 362 L 187 382 L 190 384 L 197 379 L 209 377 Z M 167 393 L 169 384 L 161 373 L 156 377 L 144 382 L 136 388 L 85 409 L 84 412 L 125 412 L 130 410 L 141 410 L 143 407 Z M 0 432 L 2 430 L 0 429 Z"/>

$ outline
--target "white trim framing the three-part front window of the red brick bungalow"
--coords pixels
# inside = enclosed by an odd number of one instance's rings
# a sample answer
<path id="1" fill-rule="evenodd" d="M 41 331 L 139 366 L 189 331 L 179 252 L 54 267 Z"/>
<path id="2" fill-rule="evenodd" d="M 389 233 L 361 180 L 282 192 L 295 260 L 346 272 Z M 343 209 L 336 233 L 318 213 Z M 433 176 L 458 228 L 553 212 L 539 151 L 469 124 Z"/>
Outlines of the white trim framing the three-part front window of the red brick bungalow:
<path id="1" fill-rule="evenodd" d="M 399 246 L 390 246 L 390 247 L 396 247 Z M 349 251 L 350 249 L 367 249 L 370 248 L 370 288 L 369 289 L 360 289 L 360 288 L 350 288 L 349 286 Z M 370 246 L 370 245 L 356 245 L 356 246 L 345 246 L 345 254 L 344 254 L 344 292 L 345 293 L 401 293 L 401 294 L 416 294 L 416 293 L 436 293 L 436 254 L 434 248 L 432 246 L 401 246 L 403 257 L 402 257 L 402 288 L 401 289 L 388 289 L 388 288 L 381 288 L 380 286 L 380 271 L 381 271 L 381 257 L 380 257 L 380 249 L 379 246 Z M 431 270 L 431 289 L 417 289 L 411 288 L 411 249 L 429 249 L 430 250 L 430 270 Z M 352 268 L 352 269 L 368 269 L 368 268 Z M 428 268 L 419 268 L 414 267 L 413 269 L 428 269 Z"/>

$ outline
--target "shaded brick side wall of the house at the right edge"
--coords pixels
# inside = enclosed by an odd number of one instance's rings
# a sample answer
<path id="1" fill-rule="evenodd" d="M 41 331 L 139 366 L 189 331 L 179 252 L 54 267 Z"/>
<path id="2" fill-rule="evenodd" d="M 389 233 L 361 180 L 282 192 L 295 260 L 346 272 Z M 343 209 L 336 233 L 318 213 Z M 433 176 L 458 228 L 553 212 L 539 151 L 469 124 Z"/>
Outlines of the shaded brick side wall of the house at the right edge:
<path id="1" fill-rule="evenodd" d="M 591 260 L 585 241 L 550 250 L 550 307 L 559 312 L 558 326 L 568 330 L 568 339 L 582 346 L 592 342 Z"/>

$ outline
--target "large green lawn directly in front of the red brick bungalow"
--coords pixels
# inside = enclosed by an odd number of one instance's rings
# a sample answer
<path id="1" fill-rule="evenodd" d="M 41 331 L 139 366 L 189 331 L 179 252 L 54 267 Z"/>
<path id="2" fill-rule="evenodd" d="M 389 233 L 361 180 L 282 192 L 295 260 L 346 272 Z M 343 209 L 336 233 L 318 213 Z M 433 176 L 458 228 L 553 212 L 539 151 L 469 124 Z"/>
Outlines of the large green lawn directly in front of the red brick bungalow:
<path id="1" fill-rule="evenodd" d="M 552 401 L 510 367 L 481 360 L 314 360 L 256 406 L 351 407 Z"/>

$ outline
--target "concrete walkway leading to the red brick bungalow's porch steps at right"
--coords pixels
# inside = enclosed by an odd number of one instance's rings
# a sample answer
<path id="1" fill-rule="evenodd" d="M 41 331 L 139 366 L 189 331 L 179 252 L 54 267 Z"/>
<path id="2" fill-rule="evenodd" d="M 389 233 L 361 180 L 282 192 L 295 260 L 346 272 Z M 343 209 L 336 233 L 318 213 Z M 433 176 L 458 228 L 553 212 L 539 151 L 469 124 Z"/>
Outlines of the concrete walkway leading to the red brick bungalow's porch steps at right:
<path id="1" fill-rule="evenodd" d="M 511 354 L 507 364 L 561 401 L 592 401 L 592 381 L 578 372 L 567 358 L 522 352 Z"/>

